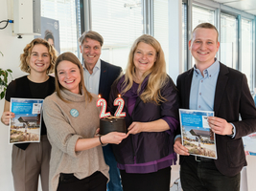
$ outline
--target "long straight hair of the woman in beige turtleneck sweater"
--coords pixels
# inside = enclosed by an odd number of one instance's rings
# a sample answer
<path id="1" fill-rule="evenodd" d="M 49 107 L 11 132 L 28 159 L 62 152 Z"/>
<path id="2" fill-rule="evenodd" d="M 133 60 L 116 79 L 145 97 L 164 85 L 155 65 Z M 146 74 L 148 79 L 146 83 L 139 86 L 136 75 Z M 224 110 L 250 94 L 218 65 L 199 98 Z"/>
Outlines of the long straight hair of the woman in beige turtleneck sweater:
<path id="1" fill-rule="evenodd" d="M 84 86 L 84 81 L 83 81 L 83 69 L 81 67 L 81 62 L 79 60 L 79 58 L 74 54 L 74 53 L 61 53 L 60 55 L 58 55 L 58 58 L 56 60 L 56 64 L 55 64 L 55 74 L 56 74 L 56 77 L 55 77 L 55 85 L 56 85 L 56 92 L 57 92 L 57 95 L 58 97 L 63 100 L 64 102 L 68 102 L 68 100 L 64 99 L 63 96 L 60 95 L 60 90 L 64 89 L 63 86 L 61 86 L 61 84 L 59 83 L 58 81 L 58 72 L 57 72 L 57 67 L 58 67 L 58 64 L 61 62 L 61 61 L 70 61 L 72 62 L 73 64 L 77 65 L 78 68 L 80 69 L 80 74 L 81 74 L 81 81 L 80 81 L 80 84 L 79 84 L 79 89 L 80 89 L 80 93 L 81 93 L 81 90 L 85 96 L 85 101 L 89 100 L 89 102 L 92 100 L 92 96 L 91 94 L 86 90 L 85 86 Z"/>

